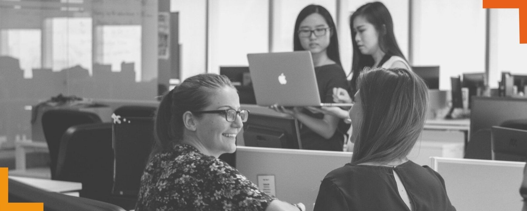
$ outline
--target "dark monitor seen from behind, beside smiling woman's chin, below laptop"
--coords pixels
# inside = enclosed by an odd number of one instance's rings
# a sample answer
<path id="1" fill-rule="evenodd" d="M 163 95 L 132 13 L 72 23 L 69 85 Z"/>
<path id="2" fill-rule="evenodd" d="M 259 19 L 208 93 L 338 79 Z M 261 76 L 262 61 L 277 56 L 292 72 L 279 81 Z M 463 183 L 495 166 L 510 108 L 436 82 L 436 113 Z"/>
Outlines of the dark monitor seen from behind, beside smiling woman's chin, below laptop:
<path id="1" fill-rule="evenodd" d="M 243 140 L 248 147 L 302 148 L 296 119 L 265 114 L 249 115 L 243 123 Z"/>

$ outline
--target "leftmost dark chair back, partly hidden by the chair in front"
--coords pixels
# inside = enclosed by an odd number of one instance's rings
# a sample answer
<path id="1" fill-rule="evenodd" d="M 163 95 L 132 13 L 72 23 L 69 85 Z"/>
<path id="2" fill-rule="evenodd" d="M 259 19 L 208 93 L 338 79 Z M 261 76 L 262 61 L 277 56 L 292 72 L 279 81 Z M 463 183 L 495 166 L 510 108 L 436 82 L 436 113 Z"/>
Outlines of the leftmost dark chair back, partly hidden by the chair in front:
<path id="1" fill-rule="evenodd" d="M 101 123 L 101 118 L 95 113 L 66 109 L 48 110 L 42 114 L 42 129 L 50 151 L 51 179 L 55 179 L 58 147 L 64 132 L 71 126 L 90 123 Z"/>

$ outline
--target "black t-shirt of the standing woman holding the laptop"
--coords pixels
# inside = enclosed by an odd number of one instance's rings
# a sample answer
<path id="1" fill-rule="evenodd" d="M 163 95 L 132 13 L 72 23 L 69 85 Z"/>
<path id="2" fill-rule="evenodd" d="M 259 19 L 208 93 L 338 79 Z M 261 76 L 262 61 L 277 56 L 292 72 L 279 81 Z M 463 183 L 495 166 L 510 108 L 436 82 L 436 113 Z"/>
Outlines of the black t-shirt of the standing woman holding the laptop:
<path id="1" fill-rule="evenodd" d="M 334 102 L 333 88 L 337 87 L 348 90 L 346 73 L 344 73 L 344 70 L 338 64 L 317 66 L 315 68 L 315 75 L 317 76 L 318 93 L 320 94 L 320 100 L 323 103 Z M 317 119 L 324 118 L 324 114 L 311 113 L 307 109 L 302 112 Z M 300 140 L 302 140 L 302 149 L 342 151 L 344 144 L 344 133 L 349 128 L 349 124 L 345 124 L 343 120 L 340 120 L 338 128 L 333 134 L 333 137 L 329 139 L 321 137 L 307 126 L 300 124 L 300 127 Z"/>

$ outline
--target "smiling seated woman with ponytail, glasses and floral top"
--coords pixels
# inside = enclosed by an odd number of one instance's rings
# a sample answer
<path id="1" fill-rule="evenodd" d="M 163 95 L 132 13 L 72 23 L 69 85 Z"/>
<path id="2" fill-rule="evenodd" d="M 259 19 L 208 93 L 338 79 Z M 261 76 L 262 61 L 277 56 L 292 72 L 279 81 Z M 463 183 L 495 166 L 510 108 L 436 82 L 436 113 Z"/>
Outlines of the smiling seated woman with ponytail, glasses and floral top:
<path id="1" fill-rule="evenodd" d="M 192 76 L 165 94 L 135 210 L 304 210 L 264 193 L 218 159 L 236 150 L 248 116 L 224 75 Z"/>

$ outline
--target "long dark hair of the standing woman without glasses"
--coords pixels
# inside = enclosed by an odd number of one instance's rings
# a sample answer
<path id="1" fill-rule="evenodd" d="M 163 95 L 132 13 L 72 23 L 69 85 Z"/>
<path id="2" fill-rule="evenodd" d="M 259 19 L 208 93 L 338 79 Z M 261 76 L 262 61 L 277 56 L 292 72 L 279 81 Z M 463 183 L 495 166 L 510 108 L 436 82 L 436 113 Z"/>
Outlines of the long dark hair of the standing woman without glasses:
<path id="1" fill-rule="evenodd" d="M 353 21 L 359 16 L 363 17 L 368 23 L 374 25 L 379 35 L 378 43 L 380 50 L 387 55 L 401 56 L 405 59 L 397 41 L 395 40 L 394 24 L 392 15 L 388 11 L 388 8 L 380 2 L 372 2 L 362 5 L 349 17 L 349 28 L 352 31 L 353 45 L 352 70 L 356 75 L 354 75 L 354 79 L 352 79 L 352 85 L 356 82 L 358 72 L 362 71 L 366 66 L 374 68 L 372 56 L 362 54 L 357 46 L 357 41 L 355 41 L 357 32 L 354 31 Z"/>

